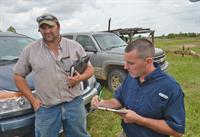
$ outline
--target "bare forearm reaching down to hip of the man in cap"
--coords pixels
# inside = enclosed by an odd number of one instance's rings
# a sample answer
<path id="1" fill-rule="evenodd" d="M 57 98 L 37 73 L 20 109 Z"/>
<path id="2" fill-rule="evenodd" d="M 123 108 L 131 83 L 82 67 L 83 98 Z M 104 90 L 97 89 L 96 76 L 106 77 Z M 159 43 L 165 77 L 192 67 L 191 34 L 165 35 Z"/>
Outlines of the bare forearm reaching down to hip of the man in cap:
<path id="1" fill-rule="evenodd" d="M 24 94 L 24 96 L 33 103 L 35 100 L 35 97 L 32 94 L 31 89 L 28 87 L 28 84 L 22 76 L 18 74 L 14 74 L 14 80 L 16 83 L 17 88 Z"/>

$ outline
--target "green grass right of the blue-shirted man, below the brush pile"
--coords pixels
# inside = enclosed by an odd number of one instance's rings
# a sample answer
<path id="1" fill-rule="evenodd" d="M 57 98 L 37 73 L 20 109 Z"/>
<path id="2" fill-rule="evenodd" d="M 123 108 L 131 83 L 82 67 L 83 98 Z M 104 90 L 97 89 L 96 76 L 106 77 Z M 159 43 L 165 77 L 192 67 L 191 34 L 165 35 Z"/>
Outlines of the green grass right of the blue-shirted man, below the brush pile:
<path id="1" fill-rule="evenodd" d="M 185 137 L 200 136 L 200 58 L 168 54 L 169 73 L 181 84 L 185 93 Z"/>

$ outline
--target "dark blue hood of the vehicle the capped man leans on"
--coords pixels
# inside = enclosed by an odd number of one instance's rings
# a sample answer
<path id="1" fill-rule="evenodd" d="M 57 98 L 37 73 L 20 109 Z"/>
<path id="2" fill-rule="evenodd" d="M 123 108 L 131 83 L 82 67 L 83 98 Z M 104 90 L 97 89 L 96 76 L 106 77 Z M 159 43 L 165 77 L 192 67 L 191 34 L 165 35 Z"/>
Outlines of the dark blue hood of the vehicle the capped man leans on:
<path id="1" fill-rule="evenodd" d="M 0 66 L 0 90 L 9 90 L 18 92 L 15 82 L 13 80 L 13 67 L 15 64 L 7 64 Z M 34 83 L 32 74 L 26 77 L 29 87 L 33 90 Z"/>

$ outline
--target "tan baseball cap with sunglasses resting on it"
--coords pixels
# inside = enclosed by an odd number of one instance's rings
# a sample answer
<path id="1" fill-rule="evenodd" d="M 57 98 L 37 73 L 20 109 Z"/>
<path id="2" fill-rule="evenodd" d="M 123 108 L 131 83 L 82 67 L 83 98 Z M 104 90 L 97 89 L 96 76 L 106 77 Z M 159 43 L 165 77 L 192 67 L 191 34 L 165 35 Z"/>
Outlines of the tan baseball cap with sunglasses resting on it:
<path id="1" fill-rule="evenodd" d="M 56 18 L 56 16 L 54 16 L 52 14 L 43 14 L 43 15 L 37 17 L 36 20 L 37 20 L 37 23 L 39 26 L 41 26 L 42 24 L 54 26 L 55 23 L 58 23 L 58 19 Z"/>

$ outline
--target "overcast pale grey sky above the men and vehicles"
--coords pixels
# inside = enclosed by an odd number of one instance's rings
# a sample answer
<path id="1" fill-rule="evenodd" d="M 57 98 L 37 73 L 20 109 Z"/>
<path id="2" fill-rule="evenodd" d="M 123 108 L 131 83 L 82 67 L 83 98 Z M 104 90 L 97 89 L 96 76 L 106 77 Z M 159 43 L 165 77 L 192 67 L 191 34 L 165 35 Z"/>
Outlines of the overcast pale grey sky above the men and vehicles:
<path id="1" fill-rule="evenodd" d="M 36 17 L 53 13 L 61 33 L 143 27 L 156 35 L 200 33 L 200 2 L 189 0 L 0 0 L 0 29 L 40 38 Z"/>

